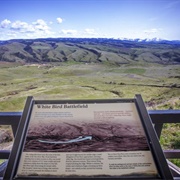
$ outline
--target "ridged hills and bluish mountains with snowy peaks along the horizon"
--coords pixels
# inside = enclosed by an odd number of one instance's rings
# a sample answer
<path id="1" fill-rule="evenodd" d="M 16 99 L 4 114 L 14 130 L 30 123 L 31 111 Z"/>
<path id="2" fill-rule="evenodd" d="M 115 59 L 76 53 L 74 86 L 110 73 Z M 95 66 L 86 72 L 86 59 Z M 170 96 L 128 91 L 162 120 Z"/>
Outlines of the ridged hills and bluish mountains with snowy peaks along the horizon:
<path id="1" fill-rule="evenodd" d="M 0 61 L 128 64 L 180 63 L 180 41 L 160 39 L 44 38 L 0 41 Z"/>

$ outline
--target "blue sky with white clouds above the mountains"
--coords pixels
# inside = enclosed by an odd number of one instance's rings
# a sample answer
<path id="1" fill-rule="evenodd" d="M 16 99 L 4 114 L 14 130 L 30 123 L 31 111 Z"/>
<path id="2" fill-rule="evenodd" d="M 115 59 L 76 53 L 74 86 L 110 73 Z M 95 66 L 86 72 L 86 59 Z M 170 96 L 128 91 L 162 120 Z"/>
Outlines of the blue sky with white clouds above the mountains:
<path id="1" fill-rule="evenodd" d="M 180 0 L 0 0 L 0 40 L 180 40 Z"/>

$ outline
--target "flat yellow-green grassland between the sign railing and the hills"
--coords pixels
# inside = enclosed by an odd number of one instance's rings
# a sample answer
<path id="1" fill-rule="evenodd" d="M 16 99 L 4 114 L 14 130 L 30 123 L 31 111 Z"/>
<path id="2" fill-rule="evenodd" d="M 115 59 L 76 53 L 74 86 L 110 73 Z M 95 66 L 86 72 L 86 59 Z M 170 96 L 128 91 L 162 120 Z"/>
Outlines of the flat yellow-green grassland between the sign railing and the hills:
<path id="1" fill-rule="evenodd" d="M 0 111 L 22 111 L 27 96 L 108 99 L 133 98 L 135 94 L 142 95 L 148 109 L 179 109 L 179 71 L 178 65 L 158 64 L 117 67 L 61 63 L 1 67 Z"/>

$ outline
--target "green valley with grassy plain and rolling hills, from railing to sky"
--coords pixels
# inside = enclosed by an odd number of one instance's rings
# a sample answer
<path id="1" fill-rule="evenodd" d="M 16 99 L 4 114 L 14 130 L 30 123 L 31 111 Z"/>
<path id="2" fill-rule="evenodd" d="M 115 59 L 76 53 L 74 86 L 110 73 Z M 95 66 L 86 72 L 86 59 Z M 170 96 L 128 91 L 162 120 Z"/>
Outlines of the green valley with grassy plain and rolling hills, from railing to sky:
<path id="1" fill-rule="evenodd" d="M 179 41 L 101 38 L 0 42 L 0 111 L 39 99 L 131 98 L 148 109 L 178 109 Z"/>

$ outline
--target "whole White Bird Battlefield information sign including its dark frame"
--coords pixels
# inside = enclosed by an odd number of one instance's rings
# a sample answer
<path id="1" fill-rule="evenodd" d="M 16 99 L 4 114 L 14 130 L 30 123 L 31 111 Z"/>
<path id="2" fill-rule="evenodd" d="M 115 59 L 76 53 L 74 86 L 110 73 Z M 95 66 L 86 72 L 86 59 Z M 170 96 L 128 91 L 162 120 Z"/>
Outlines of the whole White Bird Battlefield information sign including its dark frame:
<path id="1" fill-rule="evenodd" d="M 29 97 L 4 178 L 172 178 L 146 113 L 140 95 L 76 101 Z"/>

